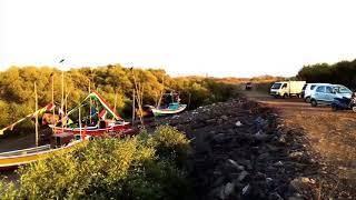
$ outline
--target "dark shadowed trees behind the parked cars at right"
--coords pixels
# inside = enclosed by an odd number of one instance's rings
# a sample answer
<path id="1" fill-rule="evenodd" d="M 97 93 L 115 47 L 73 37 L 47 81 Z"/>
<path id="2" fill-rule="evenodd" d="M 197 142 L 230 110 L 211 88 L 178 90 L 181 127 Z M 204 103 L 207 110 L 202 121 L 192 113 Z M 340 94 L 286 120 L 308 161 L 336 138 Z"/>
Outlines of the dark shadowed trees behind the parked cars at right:
<path id="1" fill-rule="evenodd" d="M 356 89 L 356 59 L 340 61 L 334 64 L 316 63 L 304 66 L 297 78 L 307 82 L 328 82 L 344 84 L 353 90 Z"/>

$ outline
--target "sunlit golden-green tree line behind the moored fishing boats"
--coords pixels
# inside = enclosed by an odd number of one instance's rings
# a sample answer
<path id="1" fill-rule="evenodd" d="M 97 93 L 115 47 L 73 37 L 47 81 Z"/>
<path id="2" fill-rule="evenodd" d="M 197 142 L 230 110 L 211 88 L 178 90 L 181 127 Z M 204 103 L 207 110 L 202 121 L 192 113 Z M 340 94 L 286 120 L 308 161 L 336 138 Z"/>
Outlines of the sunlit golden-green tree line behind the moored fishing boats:
<path id="1" fill-rule="evenodd" d="M 202 104 L 224 101 L 233 93 L 234 86 L 212 78 L 178 77 L 172 78 L 162 69 L 130 69 L 120 64 L 96 68 L 79 68 L 65 71 L 65 96 L 68 108 L 73 108 L 91 90 L 98 91 L 109 104 L 116 103 L 117 111 L 129 118 L 132 113 L 134 76 L 144 91 L 144 104 L 158 102 L 161 91 L 180 93 L 182 103 L 189 109 Z M 61 102 L 61 71 L 50 67 L 11 67 L 0 72 L 0 127 L 23 118 L 34 111 L 33 83 L 37 82 L 39 108 L 52 101 Z"/>

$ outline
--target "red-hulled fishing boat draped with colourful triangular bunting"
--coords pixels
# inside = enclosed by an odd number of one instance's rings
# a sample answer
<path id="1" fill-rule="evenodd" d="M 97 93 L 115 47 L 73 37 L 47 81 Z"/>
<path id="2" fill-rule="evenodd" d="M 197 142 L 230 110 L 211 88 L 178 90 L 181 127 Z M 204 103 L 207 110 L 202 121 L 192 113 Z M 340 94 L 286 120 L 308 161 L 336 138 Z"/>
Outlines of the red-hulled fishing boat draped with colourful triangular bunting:
<path id="1" fill-rule="evenodd" d="M 88 104 L 90 113 L 83 118 L 83 122 L 72 123 L 70 116 Z M 78 107 L 70 110 L 57 126 L 50 124 L 49 127 L 52 128 L 55 134 L 63 132 L 79 134 L 85 129 L 86 134 L 91 137 L 122 137 L 135 133 L 130 123 L 126 122 L 115 109 L 111 109 L 96 91 L 92 91 Z"/>

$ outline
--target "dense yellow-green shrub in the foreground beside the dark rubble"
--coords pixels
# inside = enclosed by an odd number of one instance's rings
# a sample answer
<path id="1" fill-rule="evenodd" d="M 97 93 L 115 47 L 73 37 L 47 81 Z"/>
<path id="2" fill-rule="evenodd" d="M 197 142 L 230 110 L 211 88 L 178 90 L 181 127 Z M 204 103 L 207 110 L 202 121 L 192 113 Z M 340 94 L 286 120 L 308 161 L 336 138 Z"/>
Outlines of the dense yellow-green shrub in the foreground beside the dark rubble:
<path id="1" fill-rule="evenodd" d="M 152 134 L 96 139 L 20 168 L 20 188 L 0 184 L 4 198 L 185 199 L 189 179 L 185 134 L 160 127 Z M 168 156 L 168 157 L 167 157 Z"/>

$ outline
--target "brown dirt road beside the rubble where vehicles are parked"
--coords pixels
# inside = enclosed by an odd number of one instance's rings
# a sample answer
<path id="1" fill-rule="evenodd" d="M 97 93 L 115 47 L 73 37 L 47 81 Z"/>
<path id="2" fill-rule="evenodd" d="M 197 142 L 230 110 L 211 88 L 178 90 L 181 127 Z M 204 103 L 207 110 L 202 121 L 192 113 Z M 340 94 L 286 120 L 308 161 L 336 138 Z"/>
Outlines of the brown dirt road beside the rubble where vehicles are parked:
<path id="1" fill-rule="evenodd" d="M 356 187 L 356 113 L 333 112 L 329 107 L 313 108 L 301 99 L 275 99 L 257 91 L 244 91 L 247 98 L 276 108 L 284 123 L 307 134 L 312 148 L 333 172 L 335 189 Z M 353 188 L 354 187 L 354 188 Z M 356 197 L 355 197 L 356 198 Z"/>

